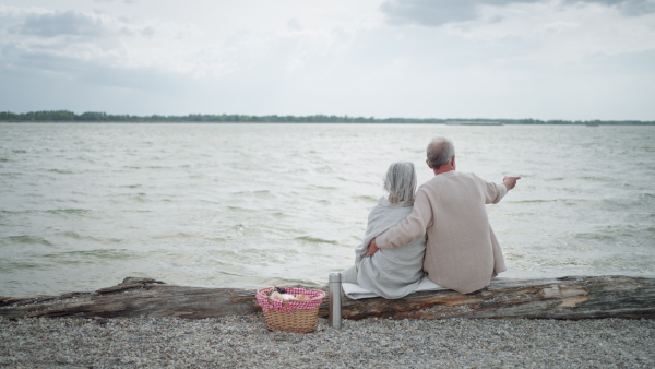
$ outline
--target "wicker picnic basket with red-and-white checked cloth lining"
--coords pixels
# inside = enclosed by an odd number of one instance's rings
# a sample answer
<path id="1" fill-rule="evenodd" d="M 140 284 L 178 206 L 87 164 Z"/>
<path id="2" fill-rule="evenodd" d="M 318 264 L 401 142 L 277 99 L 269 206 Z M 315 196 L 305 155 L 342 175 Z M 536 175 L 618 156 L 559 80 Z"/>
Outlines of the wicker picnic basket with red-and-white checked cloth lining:
<path id="1" fill-rule="evenodd" d="M 273 288 L 262 288 L 257 291 L 257 300 L 264 310 L 266 328 L 271 331 L 283 331 L 293 333 L 309 333 L 317 329 L 319 318 L 319 306 L 325 293 L 315 289 L 294 288 L 296 293 L 303 293 L 311 297 L 309 301 L 284 301 L 276 303 L 273 308 L 269 303 L 265 293 Z M 279 310 L 284 309 L 284 310 Z"/>

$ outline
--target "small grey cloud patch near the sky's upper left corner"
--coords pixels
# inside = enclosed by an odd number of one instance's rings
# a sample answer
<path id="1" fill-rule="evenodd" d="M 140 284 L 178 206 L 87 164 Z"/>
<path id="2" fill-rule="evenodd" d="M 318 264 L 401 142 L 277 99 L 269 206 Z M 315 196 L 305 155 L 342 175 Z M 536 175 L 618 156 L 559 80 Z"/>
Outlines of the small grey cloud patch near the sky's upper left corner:
<path id="1" fill-rule="evenodd" d="M 95 37 L 103 33 L 100 20 L 74 11 L 33 14 L 25 19 L 20 32 L 40 37 L 85 36 Z"/>

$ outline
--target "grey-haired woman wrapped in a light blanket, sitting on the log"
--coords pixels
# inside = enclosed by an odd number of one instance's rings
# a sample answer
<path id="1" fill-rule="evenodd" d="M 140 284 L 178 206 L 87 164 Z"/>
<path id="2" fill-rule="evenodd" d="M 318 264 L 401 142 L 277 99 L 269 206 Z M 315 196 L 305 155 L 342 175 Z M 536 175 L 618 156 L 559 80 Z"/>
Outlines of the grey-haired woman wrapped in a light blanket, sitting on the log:
<path id="1" fill-rule="evenodd" d="M 416 171 L 414 164 L 393 163 L 386 171 L 384 189 L 388 198 L 380 198 L 368 218 L 362 242 L 355 250 L 355 266 L 342 273 L 342 282 L 357 283 L 384 298 L 395 299 L 416 290 L 424 275 L 426 236 L 397 249 L 381 249 L 367 257 L 371 239 L 404 221 L 414 205 Z"/>

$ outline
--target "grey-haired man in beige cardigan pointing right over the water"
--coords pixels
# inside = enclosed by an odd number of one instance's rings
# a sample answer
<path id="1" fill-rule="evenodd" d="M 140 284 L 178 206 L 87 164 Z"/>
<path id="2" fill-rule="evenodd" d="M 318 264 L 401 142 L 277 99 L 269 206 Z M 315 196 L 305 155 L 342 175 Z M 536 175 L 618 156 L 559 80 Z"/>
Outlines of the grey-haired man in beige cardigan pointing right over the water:
<path id="1" fill-rule="evenodd" d="M 427 155 L 434 178 L 418 189 L 405 221 L 373 238 L 368 255 L 378 248 L 402 247 L 427 233 L 424 271 L 430 281 L 462 294 L 473 293 L 507 270 L 485 204 L 498 203 L 521 177 L 504 177 L 497 184 L 456 171 L 455 148 L 444 138 L 432 140 Z"/>

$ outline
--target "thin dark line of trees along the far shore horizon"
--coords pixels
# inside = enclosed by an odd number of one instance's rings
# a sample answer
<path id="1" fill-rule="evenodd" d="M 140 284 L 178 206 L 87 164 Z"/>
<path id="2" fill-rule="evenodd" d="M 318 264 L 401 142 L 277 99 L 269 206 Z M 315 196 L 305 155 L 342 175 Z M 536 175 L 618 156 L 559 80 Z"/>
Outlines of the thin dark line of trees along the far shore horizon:
<path id="1" fill-rule="evenodd" d="M 539 119 L 437 119 L 437 118 L 373 118 L 348 116 L 248 116 L 248 115 L 201 115 L 187 116 L 130 116 L 86 111 L 74 114 L 69 110 L 43 110 L 14 114 L 0 111 L 4 122 L 243 122 L 243 123 L 419 123 L 419 124 L 655 124 L 655 121 L 641 120 L 539 120 Z"/>

